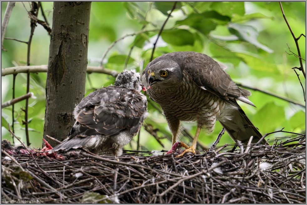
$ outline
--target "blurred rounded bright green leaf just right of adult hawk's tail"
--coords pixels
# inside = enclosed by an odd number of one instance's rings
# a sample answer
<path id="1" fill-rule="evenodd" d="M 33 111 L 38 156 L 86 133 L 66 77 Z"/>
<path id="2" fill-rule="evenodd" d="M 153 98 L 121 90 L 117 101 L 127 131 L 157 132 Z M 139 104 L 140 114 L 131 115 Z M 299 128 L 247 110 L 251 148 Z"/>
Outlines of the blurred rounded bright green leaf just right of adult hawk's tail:
<path id="1" fill-rule="evenodd" d="M 253 116 L 252 121 L 262 133 L 273 132 L 277 128 L 283 127 L 285 122 L 284 108 L 269 102 Z"/>

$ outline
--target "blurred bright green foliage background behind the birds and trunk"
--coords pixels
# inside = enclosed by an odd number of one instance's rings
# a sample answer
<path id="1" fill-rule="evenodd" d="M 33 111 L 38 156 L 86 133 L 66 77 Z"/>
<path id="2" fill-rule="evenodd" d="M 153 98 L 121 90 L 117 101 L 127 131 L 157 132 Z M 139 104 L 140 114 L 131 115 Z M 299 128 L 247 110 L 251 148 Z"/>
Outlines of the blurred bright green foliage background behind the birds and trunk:
<path id="1" fill-rule="evenodd" d="M 28 41 L 30 34 L 29 3 L 16 2 L 6 31 L 6 37 Z M 289 24 L 298 37 L 305 32 L 305 2 L 282 2 Z M 53 2 L 42 2 L 44 12 L 52 23 Z M 150 61 L 153 43 L 165 22 L 174 2 L 92 2 L 89 32 L 88 65 L 98 66 L 106 51 L 103 66 L 116 71 L 124 68 L 139 71 L 140 62 L 144 67 Z M 1 2 L 3 15 L 7 2 Z M 26 9 L 25 9 L 26 8 Z M 41 12 L 39 19 L 44 20 Z M 305 34 L 305 33 L 304 33 Z M 125 38 L 122 38 L 129 35 Z M 305 105 L 302 87 L 298 77 L 291 69 L 299 67 L 299 59 L 288 55 L 290 50 L 297 53 L 295 42 L 284 21 L 278 2 L 178 2 L 176 9 L 164 27 L 154 57 L 174 51 L 197 51 L 205 53 L 228 68 L 232 79 L 243 85 L 256 87 L 288 97 Z M 111 49 L 108 49 L 117 41 Z M 50 36 L 41 25 L 37 25 L 31 46 L 31 65 L 48 64 Z M 302 58 L 305 59 L 305 38 L 299 40 Z M 1 52 L 1 67 L 26 65 L 27 46 L 12 40 L 4 40 Z M 128 54 L 131 54 L 127 61 Z M 126 62 L 127 61 L 127 62 Z M 305 66 L 305 61 L 304 61 Z M 301 74 L 300 71 L 298 71 Z M 300 75 L 305 89 L 305 79 Z M 13 76 L 2 77 L 1 101 L 12 99 Z M 86 95 L 101 86 L 108 86 L 115 79 L 105 74 L 87 74 Z M 37 97 L 29 100 L 29 128 L 31 146 L 41 147 L 44 126 L 46 73 L 31 73 L 30 91 Z M 26 92 L 26 74 L 16 77 L 15 96 Z M 286 131 L 305 133 L 305 108 L 291 104 L 271 95 L 253 91 L 250 100 L 257 106 L 241 103 L 250 120 L 262 134 L 285 128 Z M 153 101 L 151 100 L 153 103 Z M 153 103 L 154 104 L 154 103 Z M 159 105 L 154 104 L 159 107 Z M 15 133 L 25 140 L 24 108 L 25 102 L 15 104 Z M 142 150 L 169 149 L 171 133 L 160 110 L 148 104 L 151 124 L 161 143 L 148 132 L 141 129 Z M 8 133 L 7 122 L 12 124 L 12 107 L 2 109 L 2 139 L 12 139 Z M 183 124 L 191 135 L 196 131 L 195 123 Z M 199 141 L 211 145 L 221 131 L 221 125 L 211 134 L 202 131 Z M 289 136 L 278 133 L 275 137 Z M 164 138 L 165 137 L 165 138 Z M 138 137 L 126 146 L 136 149 Z M 182 138 L 188 142 L 187 137 Z M 225 134 L 220 144 L 233 143 Z"/>

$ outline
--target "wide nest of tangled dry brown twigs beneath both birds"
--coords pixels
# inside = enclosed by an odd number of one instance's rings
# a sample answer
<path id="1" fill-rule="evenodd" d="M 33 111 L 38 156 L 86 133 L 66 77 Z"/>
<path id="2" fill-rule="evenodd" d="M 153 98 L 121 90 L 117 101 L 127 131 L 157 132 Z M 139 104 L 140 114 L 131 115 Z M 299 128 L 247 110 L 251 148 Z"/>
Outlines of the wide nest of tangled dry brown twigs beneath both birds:
<path id="1" fill-rule="evenodd" d="M 305 203 L 305 135 L 204 154 L 87 153 L 65 161 L 2 150 L 2 201 L 43 203 Z M 163 150 L 162 150 L 163 151 Z M 135 151 L 140 152 L 140 151 Z M 151 153 L 153 154 L 153 153 Z"/>

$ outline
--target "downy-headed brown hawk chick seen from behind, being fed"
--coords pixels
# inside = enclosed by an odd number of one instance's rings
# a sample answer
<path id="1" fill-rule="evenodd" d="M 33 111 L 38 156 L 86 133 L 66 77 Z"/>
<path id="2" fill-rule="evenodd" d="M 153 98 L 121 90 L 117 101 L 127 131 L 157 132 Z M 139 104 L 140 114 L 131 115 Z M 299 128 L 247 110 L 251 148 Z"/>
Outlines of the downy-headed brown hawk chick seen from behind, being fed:
<path id="1" fill-rule="evenodd" d="M 121 156 L 122 148 L 138 133 L 148 115 L 142 88 L 140 75 L 131 70 L 118 74 L 114 86 L 91 92 L 76 105 L 76 121 L 68 138 L 50 151 L 82 148 Z"/>

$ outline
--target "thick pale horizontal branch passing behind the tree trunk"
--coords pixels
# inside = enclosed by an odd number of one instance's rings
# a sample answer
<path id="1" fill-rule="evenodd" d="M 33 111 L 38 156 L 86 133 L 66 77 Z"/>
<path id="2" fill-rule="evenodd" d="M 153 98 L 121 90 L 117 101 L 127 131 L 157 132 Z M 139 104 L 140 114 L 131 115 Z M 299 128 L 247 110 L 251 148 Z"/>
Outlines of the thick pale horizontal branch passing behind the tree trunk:
<path id="1" fill-rule="evenodd" d="M 47 68 L 48 68 L 48 65 L 15 66 L 15 67 L 3 68 L 1 69 L 1 76 L 12 75 L 12 74 L 17 75 L 18 73 L 47 72 Z M 118 75 L 118 72 L 115 70 L 111 70 L 108 68 L 101 70 L 101 67 L 97 67 L 97 66 L 87 66 L 86 72 L 87 73 L 102 73 L 102 74 L 107 74 L 107 75 L 114 76 L 114 77 Z"/>

